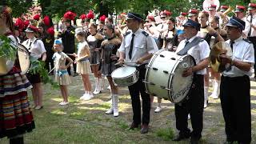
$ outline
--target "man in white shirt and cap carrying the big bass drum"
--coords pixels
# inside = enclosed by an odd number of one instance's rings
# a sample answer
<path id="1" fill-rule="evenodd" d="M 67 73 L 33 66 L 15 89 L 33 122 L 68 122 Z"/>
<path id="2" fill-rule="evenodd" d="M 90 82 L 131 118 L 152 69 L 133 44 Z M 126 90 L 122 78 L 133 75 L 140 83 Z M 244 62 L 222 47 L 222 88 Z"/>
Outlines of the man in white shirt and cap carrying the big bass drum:
<path id="1" fill-rule="evenodd" d="M 202 137 L 203 85 L 204 74 L 206 74 L 206 67 L 209 64 L 210 48 L 205 40 L 197 37 L 198 30 L 200 30 L 198 22 L 188 20 L 183 27 L 186 39 L 179 43 L 176 53 L 178 55 L 191 55 L 196 62 L 196 66 L 186 69 L 182 74 L 184 77 L 194 74 L 194 84 L 191 87 L 188 99 L 175 104 L 176 128 L 179 130 L 179 134 L 173 141 L 181 141 L 191 137 L 191 143 L 198 143 Z M 187 123 L 188 114 L 190 114 L 193 128 L 191 133 Z"/>

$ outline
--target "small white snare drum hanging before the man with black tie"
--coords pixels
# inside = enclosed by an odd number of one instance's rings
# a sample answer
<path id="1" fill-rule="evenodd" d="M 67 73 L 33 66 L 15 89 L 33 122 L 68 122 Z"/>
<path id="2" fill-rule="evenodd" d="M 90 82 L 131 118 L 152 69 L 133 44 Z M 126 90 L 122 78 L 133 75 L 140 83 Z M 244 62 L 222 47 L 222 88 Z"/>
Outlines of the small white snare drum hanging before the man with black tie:
<path id="1" fill-rule="evenodd" d="M 111 74 L 113 82 L 120 86 L 131 86 L 138 81 L 138 70 L 132 66 L 120 67 L 114 70 Z"/>

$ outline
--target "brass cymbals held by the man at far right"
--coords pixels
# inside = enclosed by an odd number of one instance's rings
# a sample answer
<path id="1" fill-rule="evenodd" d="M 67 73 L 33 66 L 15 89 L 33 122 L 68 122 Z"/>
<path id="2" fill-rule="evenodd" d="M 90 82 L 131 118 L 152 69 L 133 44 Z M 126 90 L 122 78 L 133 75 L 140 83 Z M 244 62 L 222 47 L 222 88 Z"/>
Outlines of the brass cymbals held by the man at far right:
<path id="1" fill-rule="evenodd" d="M 222 72 L 226 70 L 226 65 L 222 64 L 219 56 L 221 54 L 226 54 L 227 56 L 232 56 L 231 47 L 226 44 L 226 42 L 218 42 L 210 50 L 210 67 L 215 72 Z"/>

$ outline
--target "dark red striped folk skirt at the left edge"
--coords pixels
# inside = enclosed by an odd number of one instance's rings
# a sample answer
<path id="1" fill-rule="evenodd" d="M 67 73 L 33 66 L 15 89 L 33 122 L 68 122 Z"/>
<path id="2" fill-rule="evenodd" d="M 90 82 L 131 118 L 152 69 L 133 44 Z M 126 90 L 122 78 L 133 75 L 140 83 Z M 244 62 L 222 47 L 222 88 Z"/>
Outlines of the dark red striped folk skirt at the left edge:
<path id="1" fill-rule="evenodd" d="M 14 137 L 34 129 L 27 90 L 32 86 L 26 75 L 13 69 L 0 76 L 0 138 Z"/>

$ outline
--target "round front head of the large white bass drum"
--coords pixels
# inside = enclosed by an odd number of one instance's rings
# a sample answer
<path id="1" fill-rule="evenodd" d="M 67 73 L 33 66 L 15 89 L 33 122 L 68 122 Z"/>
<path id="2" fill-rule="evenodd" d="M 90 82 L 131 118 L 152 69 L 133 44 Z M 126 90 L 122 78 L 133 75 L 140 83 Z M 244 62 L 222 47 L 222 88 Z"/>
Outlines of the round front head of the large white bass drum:
<path id="1" fill-rule="evenodd" d="M 188 77 L 182 77 L 182 73 L 187 68 L 194 66 L 194 58 L 190 55 L 185 55 L 179 58 L 178 65 L 174 69 L 174 75 L 171 80 L 171 92 L 170 96 L 174 103 L 182 102 L 190 92 L 190 87 L 193 83 L 194 75 Z"/>

